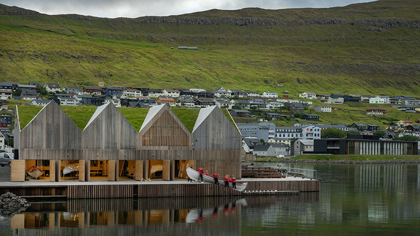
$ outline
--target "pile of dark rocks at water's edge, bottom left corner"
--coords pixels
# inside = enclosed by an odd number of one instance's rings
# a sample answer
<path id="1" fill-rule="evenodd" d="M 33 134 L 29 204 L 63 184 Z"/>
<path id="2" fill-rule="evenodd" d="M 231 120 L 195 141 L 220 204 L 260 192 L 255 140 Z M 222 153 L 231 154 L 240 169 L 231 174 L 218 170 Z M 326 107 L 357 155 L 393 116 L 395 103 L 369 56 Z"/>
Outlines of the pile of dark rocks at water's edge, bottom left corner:
<path id="1" fill-rule="evenodd" d="M 0 196 L 0 215 L 5 218 L 11 218 L 14 214 L 26 210 L 30 205 L 26 199 L 7 192 Z"/>

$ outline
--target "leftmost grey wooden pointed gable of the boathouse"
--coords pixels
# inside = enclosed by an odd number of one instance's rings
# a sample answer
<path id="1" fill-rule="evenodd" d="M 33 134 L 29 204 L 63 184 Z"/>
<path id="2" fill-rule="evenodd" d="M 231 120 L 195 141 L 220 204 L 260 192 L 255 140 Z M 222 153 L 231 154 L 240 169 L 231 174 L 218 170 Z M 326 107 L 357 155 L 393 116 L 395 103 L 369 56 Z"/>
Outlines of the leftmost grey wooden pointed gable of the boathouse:
<path id="1" fill-rule="evenodd" d="M 82 131 L 54 102 L 48 103 L 21 130 L 21 147 L 80 149 Z"/>

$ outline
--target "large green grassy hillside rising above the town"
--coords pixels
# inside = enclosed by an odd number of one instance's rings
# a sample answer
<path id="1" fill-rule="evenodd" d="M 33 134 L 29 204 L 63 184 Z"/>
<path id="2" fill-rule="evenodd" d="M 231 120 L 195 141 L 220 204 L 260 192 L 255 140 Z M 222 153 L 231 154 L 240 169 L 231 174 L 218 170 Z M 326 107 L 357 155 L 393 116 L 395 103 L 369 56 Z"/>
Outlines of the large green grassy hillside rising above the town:
<path id="1" fill-rule="evenodd" d="M 377 1 L 135 19 L 0 5 L 0 81 L 417 95 L 417 5 Z M 170 49 L 180 45 L 199 50 Z"/>

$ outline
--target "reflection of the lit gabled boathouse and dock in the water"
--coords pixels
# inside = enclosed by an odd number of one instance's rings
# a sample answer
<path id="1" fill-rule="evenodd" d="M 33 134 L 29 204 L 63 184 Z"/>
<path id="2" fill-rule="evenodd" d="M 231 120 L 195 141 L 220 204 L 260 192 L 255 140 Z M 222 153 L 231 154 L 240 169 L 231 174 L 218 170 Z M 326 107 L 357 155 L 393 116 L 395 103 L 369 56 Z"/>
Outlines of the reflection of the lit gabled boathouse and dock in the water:
<path id="1" fill-rule="evenodd" d="M 318 201 L 318 193 L 34 203 L 25 213 L 14 215 L 10 227 L 14 235 L 240 235 L 243 207 L 302 201 Z"/>

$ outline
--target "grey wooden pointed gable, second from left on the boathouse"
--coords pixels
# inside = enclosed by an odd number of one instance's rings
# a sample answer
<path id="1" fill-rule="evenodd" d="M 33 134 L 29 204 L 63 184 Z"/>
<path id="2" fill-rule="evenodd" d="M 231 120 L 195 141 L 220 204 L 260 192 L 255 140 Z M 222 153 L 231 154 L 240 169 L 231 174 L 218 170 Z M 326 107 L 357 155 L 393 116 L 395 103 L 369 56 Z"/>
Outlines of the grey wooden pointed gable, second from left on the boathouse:
<path id="1" fill-rule="evenodd" d="M 136 149 L 136 129 L 112 104 L 97 108 L 82 133 L 86 149 Z"/>

